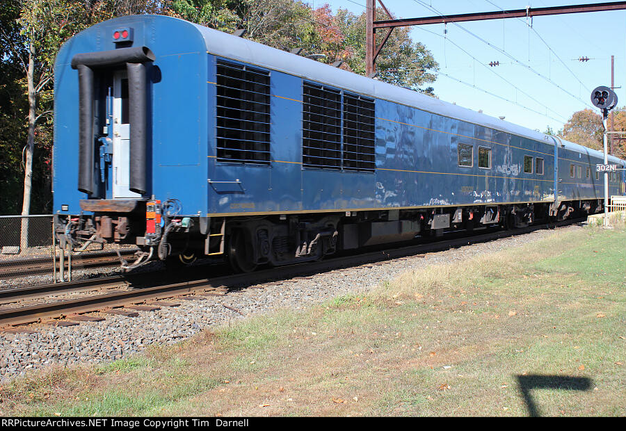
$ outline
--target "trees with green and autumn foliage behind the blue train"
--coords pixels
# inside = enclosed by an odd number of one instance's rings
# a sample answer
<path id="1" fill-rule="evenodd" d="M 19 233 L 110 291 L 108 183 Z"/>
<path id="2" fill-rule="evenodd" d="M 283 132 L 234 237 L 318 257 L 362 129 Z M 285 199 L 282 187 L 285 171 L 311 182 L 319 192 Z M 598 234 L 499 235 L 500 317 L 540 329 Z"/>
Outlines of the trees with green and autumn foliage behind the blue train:
<path id="1" fill-rule="evenodd" d="M 376 13 L 377 19 L 387 19 L 383 10 Z M 179 17 L 228 33 L 246 29 L 244 37 L 250 40 L 286 51 L 301 48 L 301 55 L 323 54 L 324 63 L 342 60 L 342 69 L 365 73 L 365 14 L 345 9 L 332 13 L 327 4 L 312 8 L 298 0 L 3 0 L 0 214 L 51 212 L 54 58 L 61 44 L 98 22 L 136 14 Z M 424 44 L 410 38 L 408 27 L 394 29 L 376 64 L 381 81 L 434 96 L 429 84 L 439 65 Z M 626 126 L 624 111 L 619 113 L 620 127 Z M 570 120 L 572 127 L 568 122 L 559 133 L 597 147 L 597 127 L 588 126 L 593 115 L 578 114 Z M 624 146 L 617 147 L 616 155 L 624 156 Z"/>

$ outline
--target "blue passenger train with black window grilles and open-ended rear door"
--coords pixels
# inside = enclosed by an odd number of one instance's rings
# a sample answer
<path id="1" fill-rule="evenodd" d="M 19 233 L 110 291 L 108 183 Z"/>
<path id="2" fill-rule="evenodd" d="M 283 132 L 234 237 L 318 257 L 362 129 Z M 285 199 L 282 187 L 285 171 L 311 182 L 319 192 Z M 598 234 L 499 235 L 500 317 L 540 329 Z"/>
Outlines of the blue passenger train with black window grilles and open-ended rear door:
<path id="1" fill-rule="evenodd" d="M 595 150 L 181 19 L 82 31 L 55 88 L 58 236 L 140 245 L 129 268 L 252 270 L 602 209 Z"/>

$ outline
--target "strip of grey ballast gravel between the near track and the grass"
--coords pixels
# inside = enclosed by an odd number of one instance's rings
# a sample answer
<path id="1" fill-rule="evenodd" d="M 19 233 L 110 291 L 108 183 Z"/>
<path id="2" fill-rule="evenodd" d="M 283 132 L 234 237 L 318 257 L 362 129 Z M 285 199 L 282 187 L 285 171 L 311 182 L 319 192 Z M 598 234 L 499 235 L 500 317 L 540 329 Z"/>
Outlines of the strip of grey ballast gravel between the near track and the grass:
<path id="1" fill-rule="evenodd" d="M 561 232 L 583 229 L 570 226 Z M 99 364 L 141 352 L 153 343 L 172 344 L 202 330 L 276 309 L 303 309 L 346 293 L 359 293 L 389 281 L 408 270 L 433 263 L 463 261 L 476 254 L 507 250 L 554 234 L 538 230 L 488 243 L 401 258 L 376 265 L 358 266 L 280 284 L 260 284 L 205 300 L 180 300 L 179 307 L 139 311 L 136 318 L 106 315 L 103 322 L 85 322 L 71 327 L 40 326 L 33 334 L 0 332 L 0 383 L 35 368 L 51 364 Z M 230 308 L 227 308 L 228 306 Z"/>

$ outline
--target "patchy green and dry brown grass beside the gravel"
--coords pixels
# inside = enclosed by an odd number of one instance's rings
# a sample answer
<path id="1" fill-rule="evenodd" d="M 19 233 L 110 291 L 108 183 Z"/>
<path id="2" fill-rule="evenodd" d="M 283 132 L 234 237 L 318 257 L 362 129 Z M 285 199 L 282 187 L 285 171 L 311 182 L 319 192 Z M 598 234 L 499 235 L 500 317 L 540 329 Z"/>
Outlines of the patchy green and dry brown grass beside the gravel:
<path id="1" fill-rule="evenodd" d="M 0 388 L 1 415 L 625 416 L 626 233 L 559 231 Z"/>

